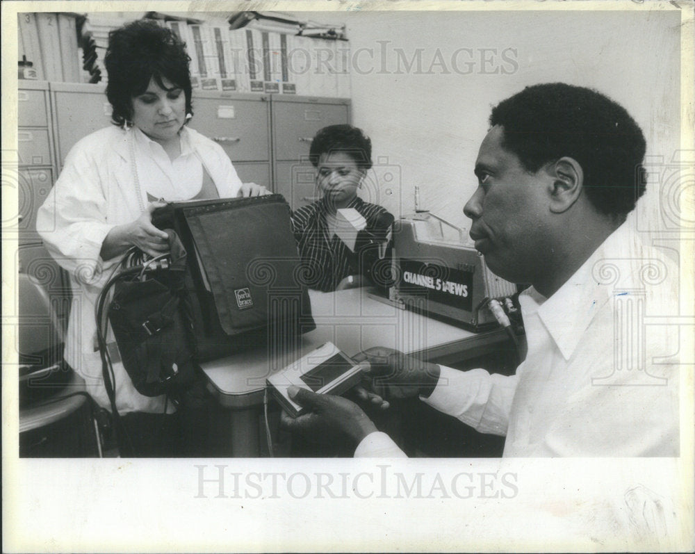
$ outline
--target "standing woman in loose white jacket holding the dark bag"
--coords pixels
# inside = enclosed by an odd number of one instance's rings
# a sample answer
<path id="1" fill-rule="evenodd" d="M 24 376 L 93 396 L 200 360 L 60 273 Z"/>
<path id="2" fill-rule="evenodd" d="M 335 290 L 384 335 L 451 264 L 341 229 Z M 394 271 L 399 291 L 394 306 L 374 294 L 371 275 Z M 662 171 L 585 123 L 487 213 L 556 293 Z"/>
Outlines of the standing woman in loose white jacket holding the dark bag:
<path id="1" fill-rule="evenodd" d="M 130 247 L 156 256 L 167 234 L 152 211 L 171 202 L 265 193 L 242 184 L 222 147 L 186 125 L 193 117 L 190 58 L 172 31 L 140 20 L 109 33 L 106 96 L 113 126 L 76 143 L 38 212 L 51 255 L 70 272 L 73 307 L 65 359 L 110 409 L 96 345 L 94 304 Z M 142 396 L 113 364 L 116 407 L 136 456 L 180 455 L 181 422 L 165 396 Z M 195 455 L 195 453 L 189 453 Z"/>

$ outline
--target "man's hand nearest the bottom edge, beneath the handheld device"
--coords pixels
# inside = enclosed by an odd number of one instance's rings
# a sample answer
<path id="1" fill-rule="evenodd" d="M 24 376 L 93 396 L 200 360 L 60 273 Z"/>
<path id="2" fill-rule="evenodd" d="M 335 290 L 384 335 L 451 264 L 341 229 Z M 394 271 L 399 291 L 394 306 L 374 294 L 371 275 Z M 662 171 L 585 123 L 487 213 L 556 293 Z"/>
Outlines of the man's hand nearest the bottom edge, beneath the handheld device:
<path id="1" fill-rule="evenodd" d="M 338 436 L 347 435 L 357 446 L 364 437 L 377 430 L 367 414 L 347 398 L 316 394 L 297 386 L 289 387 L 287 393 L 309 411 L 296 418 L 282 412 L 281 425 L 309 441 L 330 443 Z"/>

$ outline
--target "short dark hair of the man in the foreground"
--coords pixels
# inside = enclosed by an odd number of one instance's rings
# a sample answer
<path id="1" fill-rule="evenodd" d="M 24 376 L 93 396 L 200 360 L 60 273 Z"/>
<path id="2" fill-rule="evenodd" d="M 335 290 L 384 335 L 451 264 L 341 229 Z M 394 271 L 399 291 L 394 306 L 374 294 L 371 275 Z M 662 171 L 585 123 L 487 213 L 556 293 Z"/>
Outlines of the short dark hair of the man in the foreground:
<path id="1" fill-rule="evenodd" d="M 504 129 L 502 145 L 530 172 L 562 156 L 578 161 L 601 213 L 624 218 L 644 194 L 644 135 L 625 108 L 596 90 L 530 86 L 493 108 L 490 124 Z"/>

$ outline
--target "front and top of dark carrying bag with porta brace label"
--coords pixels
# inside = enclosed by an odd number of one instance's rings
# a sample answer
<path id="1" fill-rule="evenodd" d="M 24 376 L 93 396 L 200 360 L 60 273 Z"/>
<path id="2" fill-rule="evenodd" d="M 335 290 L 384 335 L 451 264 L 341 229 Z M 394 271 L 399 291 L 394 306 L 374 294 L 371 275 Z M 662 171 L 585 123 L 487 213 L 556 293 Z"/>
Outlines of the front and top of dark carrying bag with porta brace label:
<path id="1" fill-rule="evenodd" d="M 200 361 L 265 338 L 269 327 L 286 335 L 316 327 L 281 195 L 172 202 L 154 211 L 152 222 L 173 226 L 189 252 Z"/>

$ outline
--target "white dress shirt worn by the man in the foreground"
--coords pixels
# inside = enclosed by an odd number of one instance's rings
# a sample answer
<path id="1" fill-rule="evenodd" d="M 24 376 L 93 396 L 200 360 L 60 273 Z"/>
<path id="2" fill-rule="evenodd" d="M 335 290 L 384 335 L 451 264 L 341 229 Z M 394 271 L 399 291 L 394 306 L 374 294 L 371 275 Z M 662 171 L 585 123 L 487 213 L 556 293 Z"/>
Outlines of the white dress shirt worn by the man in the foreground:
<path id="1" fill-rule="evenodd" d="M 531 287 L 519 302 L 516 375 L 442 367 L 427 404 L 506 435 L 505 457 L 678 455 L 674 263 L 623 224 L 550 298 Z M 355 455 L 402 453 L 375 433 Z"/>

